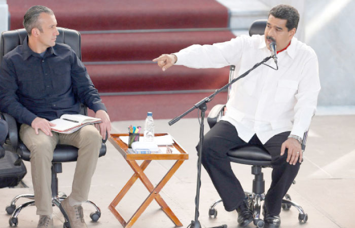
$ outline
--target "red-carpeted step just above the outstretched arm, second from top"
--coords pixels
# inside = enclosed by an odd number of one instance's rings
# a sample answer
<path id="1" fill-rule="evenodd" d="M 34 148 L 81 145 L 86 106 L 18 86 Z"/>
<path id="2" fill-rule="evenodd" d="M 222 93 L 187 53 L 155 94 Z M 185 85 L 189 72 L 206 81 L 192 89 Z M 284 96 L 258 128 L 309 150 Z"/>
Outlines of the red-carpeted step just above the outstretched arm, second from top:
<path id="1" fill-rule="evenodd" d="M 82 58 L 84 62 L 152 60 L 193 44 L 214 44 L 233 37 L 229 30 L 82 34 Z"/>

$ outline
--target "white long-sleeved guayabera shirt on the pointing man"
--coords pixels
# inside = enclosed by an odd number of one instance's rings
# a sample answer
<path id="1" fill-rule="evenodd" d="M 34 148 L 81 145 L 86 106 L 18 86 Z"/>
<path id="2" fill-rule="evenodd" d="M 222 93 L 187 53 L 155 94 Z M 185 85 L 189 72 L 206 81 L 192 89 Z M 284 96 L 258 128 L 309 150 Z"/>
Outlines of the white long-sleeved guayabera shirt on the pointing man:
<path id="1" fill-rule="evenodd" d="M 220 68 L 235 65 L 235 77 L 270 56 L 264 35 L 242 35 L 214 45 L 192 45 L 178 53 L 175 65 Z M 261 65 L 232 85 L 222 120 L 233 124 L 248 142 L 257 134 L 262 143 L 281 132 L 303 137 L 314 115 L 319 84 L 318 59 L 312 48 L 295 37 L 277 55 L 278 70 Z M 275 67 L 273 59 L 266 64 Z M 228 77 L 226 75 L 226 77 Z"/>

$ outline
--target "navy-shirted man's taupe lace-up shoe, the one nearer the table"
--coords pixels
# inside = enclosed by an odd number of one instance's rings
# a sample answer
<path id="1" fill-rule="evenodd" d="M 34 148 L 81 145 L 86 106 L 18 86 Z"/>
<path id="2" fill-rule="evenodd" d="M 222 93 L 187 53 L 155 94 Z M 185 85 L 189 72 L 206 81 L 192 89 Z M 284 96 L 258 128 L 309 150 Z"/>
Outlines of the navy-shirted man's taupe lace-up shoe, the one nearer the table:
<path id="1" fill-rule="evenodd" d="M 70 206 L 68 202 L 68 198 L 64 199 L 60 204 L 62 205 L 62 208 L 68 215 L 70 226 L 72 228 L 87 228 L 84 221 L 82 206 L 74 206 L 74 207 Z"/>

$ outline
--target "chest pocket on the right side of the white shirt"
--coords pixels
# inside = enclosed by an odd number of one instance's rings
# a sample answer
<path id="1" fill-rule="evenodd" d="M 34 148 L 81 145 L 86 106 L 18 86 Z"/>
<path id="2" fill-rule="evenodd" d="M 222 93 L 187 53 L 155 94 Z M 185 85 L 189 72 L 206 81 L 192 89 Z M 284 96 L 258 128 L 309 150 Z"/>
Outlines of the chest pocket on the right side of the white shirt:
<path id="1" fill-rule="evenodd" d="M 297 92 L 298 81 L 293 80 L 279 80 L 275 93 L 275 102 L 289 102 Z"/>

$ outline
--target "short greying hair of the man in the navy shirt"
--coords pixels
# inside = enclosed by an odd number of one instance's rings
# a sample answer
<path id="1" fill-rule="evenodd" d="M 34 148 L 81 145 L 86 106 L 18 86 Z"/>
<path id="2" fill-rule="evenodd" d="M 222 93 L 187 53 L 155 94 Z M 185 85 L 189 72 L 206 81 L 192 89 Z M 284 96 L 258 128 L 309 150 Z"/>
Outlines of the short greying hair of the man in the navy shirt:
<path id="1" fill-rule="evenodd" d="M 41 32 L 43 32 L 38 20 L 41 13 L 54 15 L 53 11 L 48 7 L 32 6 L 27 10 L 25 16 L 23 16 L 23 26 L 25 27 L 28 35 L 31 35 L 31 31 L 33 28 L 38 28 Z"/>

